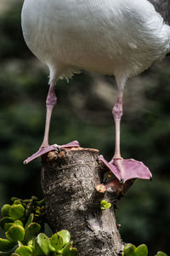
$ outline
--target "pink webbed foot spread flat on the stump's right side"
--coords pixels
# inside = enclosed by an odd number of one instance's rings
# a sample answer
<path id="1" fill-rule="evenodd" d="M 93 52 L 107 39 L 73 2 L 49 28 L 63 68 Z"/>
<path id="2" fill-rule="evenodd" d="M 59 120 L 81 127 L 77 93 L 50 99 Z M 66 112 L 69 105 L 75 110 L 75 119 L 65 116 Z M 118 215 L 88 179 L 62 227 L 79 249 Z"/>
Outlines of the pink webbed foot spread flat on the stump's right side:
<path id="1" fill-rule="evenodd" d="M 133 159 L 117 159 L 108 162 L 103 155 L 99 156 L 99 160 L 104 162 L 111 172 L 118 178 L 121 183 L 126 183 L 128 179 L 142 178 L 151 179 L 152 174 L 147 166 L 140 161 Z"/>

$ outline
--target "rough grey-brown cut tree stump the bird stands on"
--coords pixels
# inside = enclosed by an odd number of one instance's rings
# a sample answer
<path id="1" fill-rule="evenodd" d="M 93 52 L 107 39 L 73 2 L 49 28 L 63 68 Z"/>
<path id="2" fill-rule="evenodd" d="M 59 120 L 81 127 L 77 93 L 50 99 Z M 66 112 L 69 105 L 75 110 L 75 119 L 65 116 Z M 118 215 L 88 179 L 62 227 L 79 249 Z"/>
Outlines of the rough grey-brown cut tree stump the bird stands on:
<path id="1" fill-rule="evenodd" d="M 98 155 L 95 149 L 71 148 L 43 157 L 42 191 L 47 221 L 54 232 L 63 229 L 71 232 L 78 255 L 117 256 L 123 244 L 117 230 L 114 202 L 132 182 L 120 185 L 114 180 L 116 183 L 110 182 L 110 186 L 101 185 L 106 188 L 105 193 L 97 191 L 95 186 L 103 183 L 105 173 L 108 176 Z M 110 209 L 100 209 L 103 199 L 112 202 Z"/>

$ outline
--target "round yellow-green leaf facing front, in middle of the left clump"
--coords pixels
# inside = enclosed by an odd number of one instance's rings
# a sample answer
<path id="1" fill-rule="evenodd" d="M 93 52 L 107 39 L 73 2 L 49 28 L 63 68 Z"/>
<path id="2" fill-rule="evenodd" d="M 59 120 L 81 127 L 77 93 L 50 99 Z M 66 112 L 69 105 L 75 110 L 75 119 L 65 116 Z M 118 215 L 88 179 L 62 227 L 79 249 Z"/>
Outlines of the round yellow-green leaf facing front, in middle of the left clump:
<path id="1" fill-rule="evenodd" d="M 23 227 L 19 225 L 13 225 L 9 228 L 8 232 L 6 232 L 6 236 L 10 241 L 23 241 L 25 236 L 25 230 Z"/>

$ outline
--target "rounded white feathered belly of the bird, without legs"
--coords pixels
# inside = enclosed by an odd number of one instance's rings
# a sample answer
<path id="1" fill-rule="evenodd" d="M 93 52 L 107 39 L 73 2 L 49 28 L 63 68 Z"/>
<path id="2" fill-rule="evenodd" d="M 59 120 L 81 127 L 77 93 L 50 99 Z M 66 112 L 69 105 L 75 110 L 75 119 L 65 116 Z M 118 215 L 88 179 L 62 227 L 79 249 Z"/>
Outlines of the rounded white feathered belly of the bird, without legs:
<path id="1" fill-rule="evenodd" d="M 25 0 L 26 44 L 49 68 L 130 77 L 170 49 L 170 27 L 147 0 Z"/>

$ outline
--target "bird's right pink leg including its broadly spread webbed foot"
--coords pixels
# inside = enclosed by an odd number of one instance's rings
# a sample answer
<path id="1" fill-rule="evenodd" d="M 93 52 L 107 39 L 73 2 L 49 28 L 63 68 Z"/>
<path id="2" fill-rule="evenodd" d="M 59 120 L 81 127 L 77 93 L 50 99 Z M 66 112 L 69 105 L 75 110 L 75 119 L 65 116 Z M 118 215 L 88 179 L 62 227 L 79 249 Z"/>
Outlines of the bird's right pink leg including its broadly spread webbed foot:
<path id="1" fill-rule="evenodd" d="M 122 90 L 118 90 L 118 96 L 116 104 L 112 110 L 115 125 L 116 125 L 116 144 L 115 154 L 111 162 L 107 162 L 103 155 L 99 156 L 99 160 L 102 160 L 111 172 L 119 179 L 121 183 L 125 183 L 132 178 L 144 178 L 150 179 L 152 177 L 148 167 L 144 166 L 142 162 L 129 159 L 123 160 L 120 151 L 120 124 L 122 118 Z"/>

